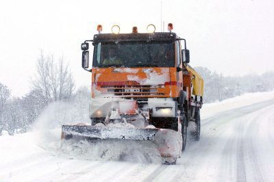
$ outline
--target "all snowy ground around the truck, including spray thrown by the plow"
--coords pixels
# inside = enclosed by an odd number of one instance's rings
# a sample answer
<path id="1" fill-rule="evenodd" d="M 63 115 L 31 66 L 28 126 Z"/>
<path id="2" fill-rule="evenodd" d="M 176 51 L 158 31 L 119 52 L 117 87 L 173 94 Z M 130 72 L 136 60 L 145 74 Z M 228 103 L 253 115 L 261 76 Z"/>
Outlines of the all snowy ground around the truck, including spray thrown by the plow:
<path id="1" fill-rule="evenodd" d="M 201 139 L 192 140 L 190 125 L 171 166 L 149 141 L 61 141 L 60 120 L 86 115 L 55 103 L 33 132 L 0 136 L 0 181 L 273 181 L 273 99 L 272 91 L 203 105 Z"/>

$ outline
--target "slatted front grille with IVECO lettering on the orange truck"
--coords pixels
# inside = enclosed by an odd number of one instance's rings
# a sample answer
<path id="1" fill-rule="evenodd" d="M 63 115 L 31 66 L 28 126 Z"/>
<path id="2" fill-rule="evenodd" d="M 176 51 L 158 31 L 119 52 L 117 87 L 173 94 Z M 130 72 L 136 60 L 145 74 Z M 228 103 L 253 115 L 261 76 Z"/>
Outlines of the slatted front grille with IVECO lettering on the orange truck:
<path id="1" fill-rule="evenodd" d="M 114 94 L 116 96 L 134 97 L 164 95 L 164 93 L 158 92 L 158 89 L 155 86 L 101 86 L 101 88 L 104 88 L 107 94 Z"/>

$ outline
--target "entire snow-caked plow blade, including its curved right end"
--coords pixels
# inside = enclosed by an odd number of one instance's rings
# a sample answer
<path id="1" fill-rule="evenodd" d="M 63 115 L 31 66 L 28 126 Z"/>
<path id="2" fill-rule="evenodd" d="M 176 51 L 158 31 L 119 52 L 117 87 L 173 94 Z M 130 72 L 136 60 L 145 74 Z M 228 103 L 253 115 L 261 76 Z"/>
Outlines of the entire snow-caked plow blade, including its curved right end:
<path id="1" fill-rule="evenodd" d="M 172 129 L 62 125 L 61 138 L 151 141 L 158 148 L 164 164 L 175 164 L 182 152 L 182 135 Z"/>

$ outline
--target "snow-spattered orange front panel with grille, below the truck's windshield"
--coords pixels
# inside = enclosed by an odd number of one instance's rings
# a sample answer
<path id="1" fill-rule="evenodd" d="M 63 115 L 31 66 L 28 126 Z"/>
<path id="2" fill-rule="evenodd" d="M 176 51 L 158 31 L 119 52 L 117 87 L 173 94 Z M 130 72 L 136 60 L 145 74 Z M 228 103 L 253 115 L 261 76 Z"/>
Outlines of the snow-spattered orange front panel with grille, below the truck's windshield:
<path id="1" fill-rule="evenodd" d="M 119 96 L 119 91 L 117 91 L 119 89 L 125 94 L 131 94 L 131 89 L 135 89 L 132 96 L 123 95 L 121 97 L 139 97 L 136 94 L 138 88 L 141 88 L 143 92 L 140 97 L 177 97 L 180 83 L 177 83 L 176 73 L 176 68 L 92 68 L 92 97 L 96 96 L 95 90 L 102 94 Z M 157 75 L 166 80 L 157 79 Z M 153 83 L 155 77 L 156 81 L 163 81 L 163 83 L 156 84 L 156 88 L 153 86 L 143 88 L 151 86 L 150 83 Z M 150 89 L 153 91 L 149 91 Z"/>

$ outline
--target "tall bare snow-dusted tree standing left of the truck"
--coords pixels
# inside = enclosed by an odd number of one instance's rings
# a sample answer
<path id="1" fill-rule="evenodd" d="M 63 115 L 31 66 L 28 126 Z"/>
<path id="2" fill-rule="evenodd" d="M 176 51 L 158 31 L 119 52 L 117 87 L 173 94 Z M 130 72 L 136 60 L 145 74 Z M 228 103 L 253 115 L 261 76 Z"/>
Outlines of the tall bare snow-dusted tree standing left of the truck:
<path id="1" fill-rule="evenodd" d="M 37 60 L 36 77 L 32 83 L 33 90 L 42 93 L 45 103 L 70 99 L 75 89 L 73 75 L 69 64 L 64 62 L 64 57 L 57 61 L 53 55 L 45 57 L 42 51 Z"/>

